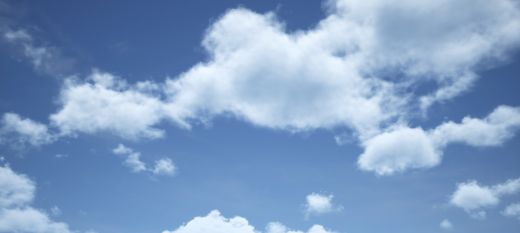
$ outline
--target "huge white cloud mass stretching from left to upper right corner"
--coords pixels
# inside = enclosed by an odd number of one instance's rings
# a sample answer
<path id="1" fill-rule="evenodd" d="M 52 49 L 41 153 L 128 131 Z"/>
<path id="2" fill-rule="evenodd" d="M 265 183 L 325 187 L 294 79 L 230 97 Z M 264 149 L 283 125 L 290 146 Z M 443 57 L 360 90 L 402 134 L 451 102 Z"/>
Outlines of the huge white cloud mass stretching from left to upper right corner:
<path id="1" fill-rule="evenodd" d="M 291 32 L 274 13 L 229 10 L 206 31 L 208 58 L 164 82 L 100 71 L 70 78 L 51 126 L 130 140 L 163 137 L 163 122 L 189 128 L 217 116 L 291 132 L 339 128 L 364 147 L 359 167 L 380 175 L 433 167 L 450 143 L 493 146 L 514 135 L 518 109 L 507 106 L 431 130 L 407 122 L 518 48 L 516 1 L 326 3 L 316 26 Z"/>

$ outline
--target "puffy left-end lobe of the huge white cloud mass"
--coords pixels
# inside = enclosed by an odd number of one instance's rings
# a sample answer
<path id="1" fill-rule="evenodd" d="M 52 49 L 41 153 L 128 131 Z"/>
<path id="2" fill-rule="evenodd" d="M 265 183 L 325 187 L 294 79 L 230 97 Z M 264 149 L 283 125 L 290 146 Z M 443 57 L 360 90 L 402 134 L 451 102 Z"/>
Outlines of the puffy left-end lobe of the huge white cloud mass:
<path id="1" fill-rule="evenodd" d="M 63 105 L 50 116 L 63 135 L 109 132 L 126 139 L 160 138 L 152 127 L 163 117 L 160 100 L 128 86 L 118 77 L 94 71 L 88 82 L 67 80 L 60 95 Z"/>

